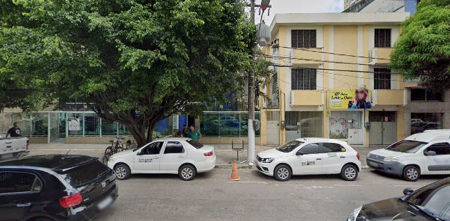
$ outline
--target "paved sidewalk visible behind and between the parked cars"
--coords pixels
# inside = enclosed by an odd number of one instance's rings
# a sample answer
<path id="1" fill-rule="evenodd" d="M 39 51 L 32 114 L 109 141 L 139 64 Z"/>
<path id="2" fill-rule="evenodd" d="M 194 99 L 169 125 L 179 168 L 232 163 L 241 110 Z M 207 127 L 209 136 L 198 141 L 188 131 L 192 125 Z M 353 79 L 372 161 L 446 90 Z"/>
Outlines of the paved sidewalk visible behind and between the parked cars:
<path id="1" fill-rule="evenodd" d="M 67 153 L 70 150 L 71 154 L 84 154 L 93 155 L 96 157 L 103 157 L 107 144 L 30 144 L 31 155 L 38 154 L 50 154 L 50 153 Z M 249 162 L 247 159 L 247 146 L 244 146 L 244 151 L 239 152 L 239 158 L 237 158 L 237 151 L 231 149 L 230 144 L 212 144 L 215 147 L 215 154 L 217 157 L 216 164 L 219 167 L 229 167 L 236 160 L 240 167 L 246 167 Z M 276 146 L 255 146 L 256 154 L 261 151 L 276 148 Z M 366 168 L 366 157 L 368 153 L 375 148 L 369 147 L 354 147 L 359 153 L 361 164 L 363 168 Z"/>

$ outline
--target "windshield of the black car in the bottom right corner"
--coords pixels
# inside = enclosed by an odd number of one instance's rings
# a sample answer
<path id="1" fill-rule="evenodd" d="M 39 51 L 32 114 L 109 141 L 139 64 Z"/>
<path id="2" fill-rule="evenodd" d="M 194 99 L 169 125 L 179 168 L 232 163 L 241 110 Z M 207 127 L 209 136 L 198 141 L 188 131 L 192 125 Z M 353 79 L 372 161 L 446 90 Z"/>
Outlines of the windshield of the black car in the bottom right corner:
<path id="1" fill-rule="evenodd" d="M 424 213 L 440 220 L 450 220 L 450 179 L 425 186 L 404 198 Z"/>

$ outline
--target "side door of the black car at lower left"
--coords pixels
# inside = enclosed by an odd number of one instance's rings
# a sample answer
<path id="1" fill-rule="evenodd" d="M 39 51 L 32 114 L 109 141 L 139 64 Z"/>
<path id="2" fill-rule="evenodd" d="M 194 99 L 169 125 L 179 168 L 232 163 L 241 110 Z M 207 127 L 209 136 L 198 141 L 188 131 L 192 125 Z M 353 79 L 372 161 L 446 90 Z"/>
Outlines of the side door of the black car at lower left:
<path id="1" fill-rule="evenodd" d="M 33 173 L 0 171 L 0 220 L 22 220 L 39 204 L 42 181 Z"/>

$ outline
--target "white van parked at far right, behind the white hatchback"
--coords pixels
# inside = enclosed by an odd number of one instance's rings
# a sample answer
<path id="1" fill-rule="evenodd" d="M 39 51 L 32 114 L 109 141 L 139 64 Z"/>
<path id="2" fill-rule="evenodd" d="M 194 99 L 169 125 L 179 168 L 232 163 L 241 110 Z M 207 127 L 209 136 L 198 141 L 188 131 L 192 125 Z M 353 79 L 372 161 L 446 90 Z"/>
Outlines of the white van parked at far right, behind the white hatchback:
<path id="1" fill-rule="evenodd" d="M 387 148 L 370 151 L 367 165 L 408 181 L 416 181 L 420 175 L 450 174 L 449 137 L 449 130 L 411 135 Z"/>

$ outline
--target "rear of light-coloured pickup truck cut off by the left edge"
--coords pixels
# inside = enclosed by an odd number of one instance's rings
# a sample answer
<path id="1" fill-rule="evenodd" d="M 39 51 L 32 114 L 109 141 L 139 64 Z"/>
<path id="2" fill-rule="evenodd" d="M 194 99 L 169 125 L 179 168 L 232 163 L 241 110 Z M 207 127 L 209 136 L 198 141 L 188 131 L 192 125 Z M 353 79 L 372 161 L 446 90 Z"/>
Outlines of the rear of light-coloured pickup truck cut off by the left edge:
<path id="1" fill-rule="evenodd" d="M 28 155 L 29 142 L 26 137 L 0 137 L 0 160 Z"/>

